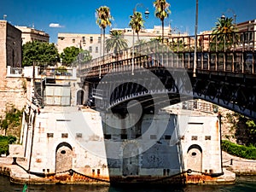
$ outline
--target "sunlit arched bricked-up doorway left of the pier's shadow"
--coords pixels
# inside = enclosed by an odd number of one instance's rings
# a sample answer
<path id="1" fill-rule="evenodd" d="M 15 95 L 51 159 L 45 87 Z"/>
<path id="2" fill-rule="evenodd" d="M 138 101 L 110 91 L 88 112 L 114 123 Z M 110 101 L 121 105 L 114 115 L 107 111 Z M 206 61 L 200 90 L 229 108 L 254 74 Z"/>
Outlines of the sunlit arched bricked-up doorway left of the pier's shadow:
<path id="1" fill-rule="evenodd" d="M 65 172 L 73 168 L 73 148 L 69 143 L 60 143 L 56 148 L 55 172 Z"/>

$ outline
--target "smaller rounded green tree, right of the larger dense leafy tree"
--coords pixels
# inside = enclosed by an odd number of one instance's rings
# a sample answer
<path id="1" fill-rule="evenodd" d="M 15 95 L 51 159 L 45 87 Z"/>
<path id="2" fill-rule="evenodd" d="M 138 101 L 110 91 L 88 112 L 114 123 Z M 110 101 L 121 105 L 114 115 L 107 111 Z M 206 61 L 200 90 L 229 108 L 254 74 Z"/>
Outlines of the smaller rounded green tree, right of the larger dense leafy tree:
<path id="1" fill-rule="evenodd" d="M 81 52 L 81 49 L 71 46 L 63 49 L 61 53 L 61 62 L 63 66 L 71 67 L 73 61 L 77 59 L 77 56 Z"/>

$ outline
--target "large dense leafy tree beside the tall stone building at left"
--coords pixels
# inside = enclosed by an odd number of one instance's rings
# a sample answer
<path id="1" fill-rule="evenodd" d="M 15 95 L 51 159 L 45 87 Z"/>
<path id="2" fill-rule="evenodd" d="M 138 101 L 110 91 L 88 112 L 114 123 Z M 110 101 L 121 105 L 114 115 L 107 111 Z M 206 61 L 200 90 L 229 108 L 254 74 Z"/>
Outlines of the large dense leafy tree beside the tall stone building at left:
<path id="1" fill-rule="evenodd" d="M 54 66 L 59 61 L 58 49 L 55 44 L 32 41 L 22 45 L 22 67 Z"/>

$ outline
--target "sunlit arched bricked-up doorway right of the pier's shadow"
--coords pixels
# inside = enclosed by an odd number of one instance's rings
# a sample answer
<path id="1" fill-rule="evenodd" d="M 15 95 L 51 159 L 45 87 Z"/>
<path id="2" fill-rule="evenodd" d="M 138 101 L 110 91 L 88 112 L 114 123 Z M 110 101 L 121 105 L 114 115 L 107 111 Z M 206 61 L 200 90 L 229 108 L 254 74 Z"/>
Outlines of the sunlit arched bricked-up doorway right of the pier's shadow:
<path id="1" fill-rule="evenodd" d="M 187 151 L 187 169 L 202 172 L 202 150 L 197 144 L 193 144 Z"/>

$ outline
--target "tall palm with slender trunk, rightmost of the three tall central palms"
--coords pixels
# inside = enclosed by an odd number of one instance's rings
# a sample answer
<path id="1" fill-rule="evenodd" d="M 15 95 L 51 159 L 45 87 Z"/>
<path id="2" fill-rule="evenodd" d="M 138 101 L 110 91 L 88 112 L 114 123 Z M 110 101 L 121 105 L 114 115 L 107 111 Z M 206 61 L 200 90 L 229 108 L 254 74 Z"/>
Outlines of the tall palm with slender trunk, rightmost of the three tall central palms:
<path id="1" fill-rule="evenodd" d="M 155 7 L 154 15 L 162 22 L 162 43 L 164 43 L 164 20 L 171 14 L 170 3 L 167 3 L 166 0 L 155 0 L 153 4 Z"/>

